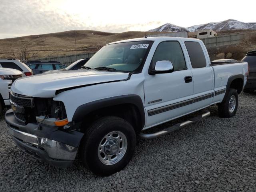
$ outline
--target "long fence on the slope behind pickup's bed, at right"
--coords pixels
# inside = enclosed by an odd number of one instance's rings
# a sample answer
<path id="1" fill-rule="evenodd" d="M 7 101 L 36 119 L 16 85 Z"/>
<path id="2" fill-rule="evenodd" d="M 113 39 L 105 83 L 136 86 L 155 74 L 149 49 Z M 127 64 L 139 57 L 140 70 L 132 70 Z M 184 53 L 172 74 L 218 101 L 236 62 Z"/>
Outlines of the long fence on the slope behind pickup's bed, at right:
<path id="1" fill-rule="evenodd" d="M 212 48 L 216 46 L 237 44 L 243 38 L 250 38 L 250 36 L 252 35 L 256 35 L 256 33 L 254 32 L 254 33 L 246 33 L 246 34 L 223 35 L 223 36 L 217 36 L 217 37 L 203 38 L 200 40 L 204 42 L 206 48 Z"/>

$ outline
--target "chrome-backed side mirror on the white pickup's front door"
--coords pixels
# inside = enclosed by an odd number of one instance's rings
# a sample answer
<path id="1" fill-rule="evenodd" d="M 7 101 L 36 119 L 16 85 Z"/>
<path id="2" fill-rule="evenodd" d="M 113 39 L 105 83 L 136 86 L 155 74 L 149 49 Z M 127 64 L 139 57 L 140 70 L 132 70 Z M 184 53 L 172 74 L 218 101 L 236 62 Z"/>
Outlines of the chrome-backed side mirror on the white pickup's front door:
<path id="1" fill-rule="evenodd" d="M 149 74 L 172 73 L 173 71 L 174 68 L 171 61 L 157 61 L 155 68 Z"/>

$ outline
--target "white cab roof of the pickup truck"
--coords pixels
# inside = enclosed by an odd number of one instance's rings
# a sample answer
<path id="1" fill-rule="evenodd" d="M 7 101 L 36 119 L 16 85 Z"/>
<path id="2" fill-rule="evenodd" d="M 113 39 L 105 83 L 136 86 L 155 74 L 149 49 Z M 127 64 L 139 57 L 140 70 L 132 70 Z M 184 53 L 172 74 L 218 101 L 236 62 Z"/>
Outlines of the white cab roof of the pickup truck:
<path id="1" fill-rule="evenodd" d="M 184 38 L 184 37 L 143 37 L 143 38 L 135 38 L 135 39 L 127 39 L 127 40 L 121 40 L 121 41 L 116 41 L 112 42 L 109 44 L 115 44 L 115 43 L 123 43 L 123 42 L 133 42 L 133 41 L 157 41 L 157 42 L 162 42 L 162 41 L 171 41 L 171 40 L 183 40 L 183 41 L 196 41 L 200 42 L 200 39 L 194 39 L 194 38 Z M 109 45 L 107 44 L 107 45 Z"/>

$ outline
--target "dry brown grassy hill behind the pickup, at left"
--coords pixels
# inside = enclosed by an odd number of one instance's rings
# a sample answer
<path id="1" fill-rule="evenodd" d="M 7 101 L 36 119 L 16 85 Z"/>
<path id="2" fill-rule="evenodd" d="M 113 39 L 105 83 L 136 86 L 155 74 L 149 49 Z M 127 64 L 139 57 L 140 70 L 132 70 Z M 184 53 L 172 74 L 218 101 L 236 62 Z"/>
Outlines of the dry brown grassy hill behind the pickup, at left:
<path id="1" fill-rule="evenodd" d="M 148 35 L 159 32 L 147 32 Z M 92 30 L 76 31 L 77 53 L 96 52 L 102 46 L 124 39 L 144 37 L 145 32 L 108 33 Z M 75 54 L 75 32 L 66 31 L 51 34 L 31 35 L 0 39 L 0 58 L 20 57 L 26 52 L 27 58 L 44 58 Z"/>

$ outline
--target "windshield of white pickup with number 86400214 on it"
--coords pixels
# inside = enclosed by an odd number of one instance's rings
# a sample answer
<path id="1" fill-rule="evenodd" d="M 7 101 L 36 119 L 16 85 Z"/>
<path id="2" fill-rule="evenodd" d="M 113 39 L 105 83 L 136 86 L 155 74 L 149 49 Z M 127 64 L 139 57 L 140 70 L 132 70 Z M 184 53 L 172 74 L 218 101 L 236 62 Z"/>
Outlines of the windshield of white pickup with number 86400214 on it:
<path id="1" fill-rule="evenodd" d="M 136 41 L 106 45 L 84 66 L 96 70 L 141 72 L 152 43 Z"/>

